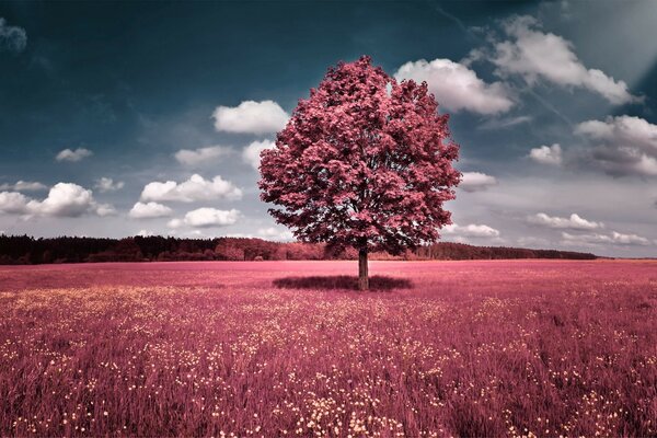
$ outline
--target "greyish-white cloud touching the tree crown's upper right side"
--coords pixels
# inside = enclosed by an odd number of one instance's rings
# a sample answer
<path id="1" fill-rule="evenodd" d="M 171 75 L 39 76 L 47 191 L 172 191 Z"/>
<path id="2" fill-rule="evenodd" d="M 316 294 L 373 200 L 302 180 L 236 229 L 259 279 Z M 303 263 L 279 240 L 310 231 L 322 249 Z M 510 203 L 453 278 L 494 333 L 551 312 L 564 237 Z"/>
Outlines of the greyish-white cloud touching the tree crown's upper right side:
<path id="1" fill-rule="evenodd" d="M 395 79 L 426 81 L 441 107 L 452 112 L 505 113 L 514 106 L 510 91 L 500 82 L 486 83 L 476 73 L 449 59 L 408 61 L 394 73 Z"/>

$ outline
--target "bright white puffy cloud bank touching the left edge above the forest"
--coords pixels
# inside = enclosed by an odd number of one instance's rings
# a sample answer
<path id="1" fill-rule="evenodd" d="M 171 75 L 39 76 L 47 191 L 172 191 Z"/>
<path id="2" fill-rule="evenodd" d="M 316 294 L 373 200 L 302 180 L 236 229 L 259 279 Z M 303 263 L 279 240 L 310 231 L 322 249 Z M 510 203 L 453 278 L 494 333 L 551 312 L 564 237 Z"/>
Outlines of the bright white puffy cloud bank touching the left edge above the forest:
<path id="1" fill-rule="evenodd" d="M 43 200 L 31 199 L 18 192 L 0 193 L 0 211 L 24 216 L 74 218 L 84 214 L 108 216 L 115 212 L 108 204 L 99 204 L 93 193 L 78 184 L 57 183 Z"/>

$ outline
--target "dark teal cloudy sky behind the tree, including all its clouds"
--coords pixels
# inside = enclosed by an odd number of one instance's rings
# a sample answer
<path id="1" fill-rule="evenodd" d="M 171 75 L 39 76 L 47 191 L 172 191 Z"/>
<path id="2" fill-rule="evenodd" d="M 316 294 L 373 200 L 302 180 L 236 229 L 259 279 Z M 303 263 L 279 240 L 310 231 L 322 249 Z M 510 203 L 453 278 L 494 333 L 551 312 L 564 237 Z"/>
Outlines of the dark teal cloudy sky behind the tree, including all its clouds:
<path id="1" fill-rule="evenodd" d="M 443 239 L 657 256 L 657 2 L 0 2 L 0 232 L 287 239 L 258 152 L 338 60 L 427 81 Z"/>

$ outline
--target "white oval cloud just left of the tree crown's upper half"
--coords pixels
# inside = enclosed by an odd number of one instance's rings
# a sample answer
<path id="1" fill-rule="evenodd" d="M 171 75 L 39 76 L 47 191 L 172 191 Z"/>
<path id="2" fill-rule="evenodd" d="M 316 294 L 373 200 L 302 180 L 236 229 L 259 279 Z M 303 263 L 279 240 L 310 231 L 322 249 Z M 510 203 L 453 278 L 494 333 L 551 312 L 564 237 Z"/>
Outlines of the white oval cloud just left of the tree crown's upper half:
<path id="1" fill-rule="evenodd" d="M 281 130 L 290 116 L 274 101 L 245 101 L 234 107 L 218 106 L 212 118 L 219 131 L 261 135 Z"/>

